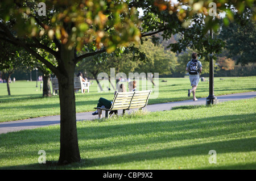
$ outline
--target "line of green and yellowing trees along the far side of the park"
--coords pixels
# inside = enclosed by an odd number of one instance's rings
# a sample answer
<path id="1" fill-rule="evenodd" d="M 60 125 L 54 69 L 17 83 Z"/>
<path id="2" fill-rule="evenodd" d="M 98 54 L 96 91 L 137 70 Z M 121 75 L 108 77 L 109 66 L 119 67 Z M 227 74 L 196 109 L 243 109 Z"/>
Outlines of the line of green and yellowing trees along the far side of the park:
<path id="1" fill-rule="evenodd" d="M 246 38 L 248 37 L 245 36 L 242 39 Z M 233 39 L 234 38 L 232 38 L 232 40 Z M 168 42 L 175 42 L 175 38 L 168 40 Z M 76 67 L 76 73 L 81 71 L 85 77 L 90 79 L 96 79 L 97 83 L 97 75 L 100 72 L 108 73 L 110 77 L 110 68 L 115 68 L 115 71 L 117 73 L 123 72 L 127 75 L 129 74 L 129 72 L 157 72 L 159 73 L 160 77 L 184 77 L 186 75 L 185 65 L 187 65 L 187 62 L 191 59 L 191 53 L 193 52 L 193 50 L 187 49 L 185 52 L 178 54 L 172 52 L 166 47 L 166 41 L 161 41 L 158 45 L 155 46 L 152 43 L 151 39 L 149 39 L 145 41 L 142 45 L 138 46 L 138 48 L 145 53 L 145 61 L 140 61 L 138 57 L 134 59 L 134 55 L 132 53 L 120 55 L 112 54 L 111 56 L 108 56 L 106 60 L 101 57 L 95 56 L 82 60 L 80 64 L 78 64 Z M 232 54 L 232 50 L 232 48 L 224 48 L 222 50 L 222 53 L 217 55 L 217 58 L 215 60 L 216 64 L 214 67 L 214 77 L 256 75 L 256 64 L 254 62 L 255 60 L 252 60 L 250 62 L 247 61 L 249 58 L 252 58 L 253 55 L 249 54 L 247 55 L 247 58 L 242 54 L 243 58 L 239 57 L 239 61 L 237 61 L 238 56 L 236 54 L 230 56 L 230 54 Z M 248 49 L 248 52 L 250 52 L 250 49 Z M 251 53 L 254 53 L 254 51 L 251 51 Z M 200 61 L 202 61 L 204 65 L 202 76 L 208 77 L 208 62 L 205 61 L 204 58 L 200 58 Z M 241 62 L 246 62 L 246 64 L 242 64 Z M 16 69 L 8 70 L 12 70 L 10 77 L 12 79 L 13 77 L 15 77 L 18 80 L 30 80 L 30 72 L 32 71 L 32 80 L 35 81 L 35 68 L 31 68 L 31 70 L 28 70 L 24 69 L 24 67 L 16 66 Z M 9 74 L 7 75 L 7 73 L 8 71 L 2 70 L 2 79 L 9 76 Z M 38 75 L 43 75 L 42 71 L 39 70 Z M 52 77 L 53 76 L 54 75 L 52 75 Z"/>

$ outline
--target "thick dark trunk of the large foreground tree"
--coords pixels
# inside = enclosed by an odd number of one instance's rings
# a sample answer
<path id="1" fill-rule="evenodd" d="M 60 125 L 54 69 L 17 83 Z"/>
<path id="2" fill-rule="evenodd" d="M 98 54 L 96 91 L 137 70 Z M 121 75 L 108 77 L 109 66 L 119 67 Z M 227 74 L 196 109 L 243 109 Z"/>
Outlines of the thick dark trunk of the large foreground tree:
<path id="1" fill-rule="evenodd" d="M 60 98 L 60 157 L 59 164 L 80 162 L 79 145 L 76 128 L 76 103 L 74 91 L 75 64 L 73 62 L 74 50 L 61 47 L 61 60 L 59 66 Z"/>

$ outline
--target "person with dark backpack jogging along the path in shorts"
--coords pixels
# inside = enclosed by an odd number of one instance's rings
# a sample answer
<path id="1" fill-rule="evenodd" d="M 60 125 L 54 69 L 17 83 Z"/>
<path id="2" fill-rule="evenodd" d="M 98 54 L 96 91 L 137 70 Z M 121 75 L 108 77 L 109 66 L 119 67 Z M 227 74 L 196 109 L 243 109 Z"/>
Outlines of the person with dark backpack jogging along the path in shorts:
<path id="1" fill-rule="evenodd" d="M 196 52 L 192 53 L 192 59 L 188 62 L 186 71 L 189 73 L 189 80 L 192 86 L 192 89 L 188 90 L 188 96 L 192 92 L 193 100 L 196 101 L 196 88 L 200 80 L 200 73 L 202 72 L 202 63 L 197 60 Z"/>

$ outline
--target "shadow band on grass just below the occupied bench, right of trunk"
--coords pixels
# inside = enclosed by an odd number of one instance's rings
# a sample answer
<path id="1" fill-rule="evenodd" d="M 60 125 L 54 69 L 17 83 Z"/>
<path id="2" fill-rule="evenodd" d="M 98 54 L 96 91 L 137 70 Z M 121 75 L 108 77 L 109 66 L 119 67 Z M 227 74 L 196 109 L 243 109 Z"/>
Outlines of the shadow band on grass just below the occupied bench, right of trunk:
<path id="1" fill-rule="evenodd" d="M 143 117 L 143 116 L 142 116 Z M 207 137 L 216 137 L 222 136 L 226 133 L 239 133 L 242 132 L 241 129 L 234 129 L 232 125 L 250 123 L 251 120 L 254 120 L 255 114 L 246 115 L 228 115 L 228 116 L 216 116 L 216 117 L 206 117 L 202 119 L 192 119 L 190 120 L 161 120 L 154 121 L 158 119 L 156 117 L 151 117 L 151 120 L 146 123 L 129 123 L 118 124 L 118 125 L 102 125 L 89 128 L 78 128 L 77 132 L 79 134 L 79 139 L 82 140 L 97 140 L 102 138 L 112 138 L 118 136 L 137 136 L 137 135 L 147 135 L 151 133 L 168 133 L 168 139 L 171 141 L 185 140 L 191 138 L 207 138 Z M 133 119 L 132 117 L 130 119 Z M 136 118 L 135 118 L 136 119 Z M 98 121 L 98 120 L 95 120 Z M 99 120 L 102 121 L 102 120 Z M 110 121 L 110 120 L 106 120 Z M 216 129 L 218 128 L 218 129 Z M 216 131 L 212 131 L 216 129 Z M 165 136 L 158 136 L 157 140 L 154 141 L 166 141 Z M 150 137 L 142 138 L 141 142 L 137 144 L 145 144 L 151 142 Z M 127 141 L 125 141 L 127 142 Z M 131 144 L 134 145 L 135 142 L 131 140 Z M 95 148 L 93 148 L 95 149 Z M 100 149 L 97 147 L 97 149 Z"/>

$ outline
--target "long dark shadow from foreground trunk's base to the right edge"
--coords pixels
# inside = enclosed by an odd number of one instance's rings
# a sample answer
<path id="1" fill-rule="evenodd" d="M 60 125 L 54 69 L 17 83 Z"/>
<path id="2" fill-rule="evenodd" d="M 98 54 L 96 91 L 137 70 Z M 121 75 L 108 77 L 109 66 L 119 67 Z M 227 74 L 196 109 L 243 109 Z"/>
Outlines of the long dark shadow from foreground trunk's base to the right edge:
<path id="1" fill-rule="evenodd" d="M 129 162 L 139 162 L 139 161 L 150 161 L 154 159 L 164 159 L 164 158 L 172 158 L 172 157 L 191 157 L 193 155 L 202 155 L 206 156 L 207 159 L 205 163 L 208 165 L 209 158 L 209 150 L 217 150 L 218 154 L 221 153 L 234 153 L 245 151 L 243 149 L 236 149 L 230 147 L 230 145 L 240 145 L 240 148 L 247 148 L 246 151 L 253 151 L 255 148 L 251 144 L 256 141 L 256 138 L 245 138 L 238 140 L 229 140 L 222 142 L 210 142 L 204 144 L 194 144 L 188 146 L 178 146 L 169 149 L 158 149 L 153 151 L 142 151 L 139 153 L 131 153 L 131 154 L 123 154 L 109 157 L 98 157 L 92 159 L 84 159 L 82 160 L 82 167 L 93 167 L 93 166 L 102 166 L 102 165 L 114 165 L 121 163 L 129 163 Z M 250 145 L 250 146 L 249 146 Z M 237 169 L 242 169 L 244 165 L 236 165 Z M 221 166 L 222 169 L 233 169 L 234 166 Z M 73 168 L 76 169 L 76 168 Z M 210 167 L 209 167 L 210 169 Z M 247 168 L 248 169 L 248 168 Z M 256 163 L 251 164 L 250 169 L 256 169 Z"/>

